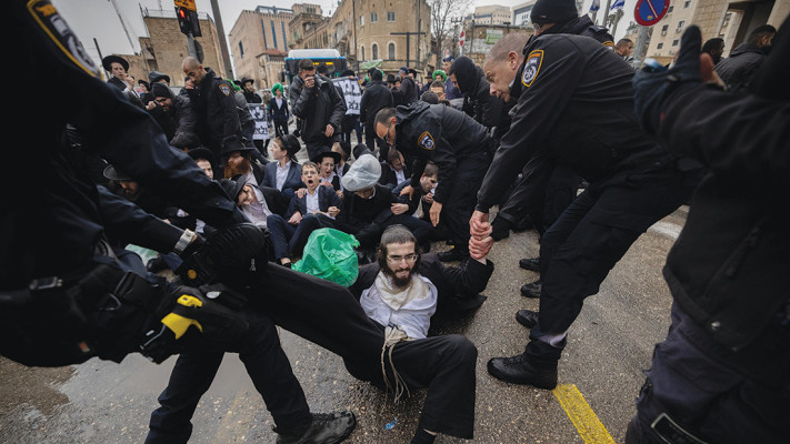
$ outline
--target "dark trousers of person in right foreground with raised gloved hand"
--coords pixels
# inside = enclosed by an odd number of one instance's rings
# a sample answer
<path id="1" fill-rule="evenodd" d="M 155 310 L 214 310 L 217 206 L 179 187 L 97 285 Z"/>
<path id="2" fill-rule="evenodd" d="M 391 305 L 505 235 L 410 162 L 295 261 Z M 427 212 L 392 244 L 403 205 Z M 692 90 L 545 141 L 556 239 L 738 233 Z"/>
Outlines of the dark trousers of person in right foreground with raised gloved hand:
<path id="1" fill-rule="evenodd" d="M 626 442 L 664 443 L 662 416 L 708 443 L 790 442 L 790 337 L 778 320 L 736 352 L 673 305 Z"/>

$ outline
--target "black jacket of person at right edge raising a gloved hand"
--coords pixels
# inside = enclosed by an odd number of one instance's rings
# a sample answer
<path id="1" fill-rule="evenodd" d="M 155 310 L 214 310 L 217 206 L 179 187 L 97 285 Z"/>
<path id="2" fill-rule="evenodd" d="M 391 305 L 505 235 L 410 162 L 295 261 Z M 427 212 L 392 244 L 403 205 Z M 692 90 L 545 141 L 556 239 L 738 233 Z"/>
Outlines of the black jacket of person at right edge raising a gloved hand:
<path id="1" fill-rule="evenodd" d="M 790 21 L 782 32 L 790 37 Z M 666 147 L 709 169 L 663 274 L 680 307 L 733 350 L 756 339 L 787 341 L 776 327 L 788 322 L 790 300 L 790 230 L 780 203 L 790 174 L 788 60 L 784 39 L 749 92 L 679 91 L 659 132 Z M 766 333 L 771 337 L 758 339 Z"/>

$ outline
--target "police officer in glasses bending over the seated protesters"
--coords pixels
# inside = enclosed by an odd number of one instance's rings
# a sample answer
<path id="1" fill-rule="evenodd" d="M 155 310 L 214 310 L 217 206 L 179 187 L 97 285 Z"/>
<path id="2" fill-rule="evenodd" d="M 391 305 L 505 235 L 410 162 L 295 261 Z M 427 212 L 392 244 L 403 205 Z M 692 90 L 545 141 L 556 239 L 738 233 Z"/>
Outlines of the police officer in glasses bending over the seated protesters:
<path id="1" fill-rule="evenodd" d="M 412 155 L 411 183 L 403 193 L 420 186 L 426 163 L 439 168 L 439 184 L 430 216 L 433 226 L 440 215 L 454 246 L 439 254 L 442 261 L 460 261 L 469 255 L 469 215 L 474 193 L 490 163 L 491 138 L 486 127 L 462 111 L 422 101 L 384 108 L 376 115 L 376 133 L 404 155 Z"/>

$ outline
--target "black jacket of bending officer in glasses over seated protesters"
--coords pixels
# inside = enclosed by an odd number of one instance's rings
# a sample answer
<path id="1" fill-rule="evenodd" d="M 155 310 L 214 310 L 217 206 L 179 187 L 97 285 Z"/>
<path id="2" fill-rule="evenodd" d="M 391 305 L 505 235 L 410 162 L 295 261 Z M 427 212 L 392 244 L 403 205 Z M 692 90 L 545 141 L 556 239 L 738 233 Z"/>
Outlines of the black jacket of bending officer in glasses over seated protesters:
<path id="1" fill-rule="evenodd" d="M 453 186 L 451 179 L 458 160 L 484 153 L 490 147 L 486 127 L 444 104 L 422 101 L 396 109 L 396 144 L 404 155 L 414 157 L 411 185 L 420 185 L 427 161 L 439 168 L 439 185 L 433 200 L 446 203 Z"/>

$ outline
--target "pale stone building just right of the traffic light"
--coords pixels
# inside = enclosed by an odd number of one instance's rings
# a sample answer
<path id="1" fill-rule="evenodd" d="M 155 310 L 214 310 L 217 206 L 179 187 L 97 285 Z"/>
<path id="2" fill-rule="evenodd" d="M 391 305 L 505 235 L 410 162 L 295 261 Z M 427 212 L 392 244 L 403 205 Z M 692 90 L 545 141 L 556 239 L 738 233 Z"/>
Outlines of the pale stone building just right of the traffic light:
<path id="1" fill-rule="evenodd" d="M 239 14 L 229 34 L 238 79 L 254 80 L 257 89 L 269 89 L 280 81 L 292 42 L 289 23 L 293 17 L 293 9 L 263 6 Z"/>

